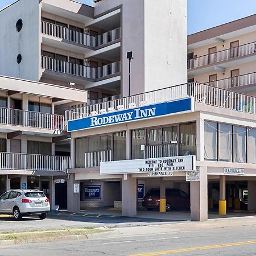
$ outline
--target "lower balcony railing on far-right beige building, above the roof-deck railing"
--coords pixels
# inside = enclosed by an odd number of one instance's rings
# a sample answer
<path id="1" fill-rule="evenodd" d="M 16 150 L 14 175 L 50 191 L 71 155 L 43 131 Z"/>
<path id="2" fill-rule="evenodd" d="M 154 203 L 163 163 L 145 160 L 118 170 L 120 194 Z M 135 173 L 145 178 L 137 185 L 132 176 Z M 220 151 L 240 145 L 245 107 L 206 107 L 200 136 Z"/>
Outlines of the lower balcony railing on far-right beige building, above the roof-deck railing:
<path id="1" fill-rule="evenodd" d="M 204 84 L 215 86 L 221 89 L 230 89 L 243 85 L 256 84 L 256 72 L 212 82 L 204 82 Z"/>

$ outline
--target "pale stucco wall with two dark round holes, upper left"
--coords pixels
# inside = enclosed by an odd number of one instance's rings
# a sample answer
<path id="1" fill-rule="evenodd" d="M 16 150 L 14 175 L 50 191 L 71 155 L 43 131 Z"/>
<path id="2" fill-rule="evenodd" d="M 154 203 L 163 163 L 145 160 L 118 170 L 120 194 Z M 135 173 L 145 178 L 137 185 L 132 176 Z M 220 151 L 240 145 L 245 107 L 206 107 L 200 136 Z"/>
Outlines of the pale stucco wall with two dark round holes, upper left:
<path id="1" fill-rule="evenodd" d="M 23 20 L 20 32 L 16 22 Z M 20 0 L 0 12 L 0 74 L 38 81 L 39 79 L 39 5 Z M 18 64 L 16 57 L 22 55 Z"/>

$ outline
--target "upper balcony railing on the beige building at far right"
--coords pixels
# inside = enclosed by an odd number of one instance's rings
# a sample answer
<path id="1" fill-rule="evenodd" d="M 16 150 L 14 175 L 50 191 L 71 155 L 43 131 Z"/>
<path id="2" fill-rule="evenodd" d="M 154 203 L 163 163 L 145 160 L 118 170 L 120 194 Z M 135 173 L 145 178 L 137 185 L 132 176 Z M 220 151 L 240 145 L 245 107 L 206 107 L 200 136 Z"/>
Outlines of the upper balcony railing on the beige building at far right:
<path id="1" fill-rule="evenodd" d="M 225 49 L 223 51 L 210 53 L 207 55 L 194 57 L 188 60 L 188 69 L 203 67 L 209 64 L 217 64 L 221 61 L 234 59 L 256 53 L 256 42 L 243 44 L 242 46 Z"/>

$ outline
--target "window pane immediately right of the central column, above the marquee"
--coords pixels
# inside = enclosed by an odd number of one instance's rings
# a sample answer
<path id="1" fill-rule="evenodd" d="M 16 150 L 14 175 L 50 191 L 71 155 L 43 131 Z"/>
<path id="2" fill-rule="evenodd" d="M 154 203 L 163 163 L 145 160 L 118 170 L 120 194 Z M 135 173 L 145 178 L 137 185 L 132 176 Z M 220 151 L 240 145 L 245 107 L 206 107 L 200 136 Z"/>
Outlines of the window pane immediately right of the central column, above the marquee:
<path id="1" fill-rule="evenodd" d="M 141 145 L 146 145 L 146 130 L 139 129 L 131 131 L 131 158 L 143 158 L 143 151 Z"/>

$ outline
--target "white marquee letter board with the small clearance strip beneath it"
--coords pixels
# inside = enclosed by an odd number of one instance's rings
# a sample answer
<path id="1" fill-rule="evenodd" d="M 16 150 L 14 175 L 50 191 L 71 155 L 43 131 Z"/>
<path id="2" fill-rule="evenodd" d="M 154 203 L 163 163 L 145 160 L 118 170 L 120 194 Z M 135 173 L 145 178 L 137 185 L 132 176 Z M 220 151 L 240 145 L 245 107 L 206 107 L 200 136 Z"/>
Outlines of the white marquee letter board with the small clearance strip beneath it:
<path id="1" fill-rule="evenodd" d="M 195 170 L 196 157 L 192 155 L 100 163 L 101 174 L 145 173 L 150 177 L 163 177 L 172 176 L 173 172 Z"/>

